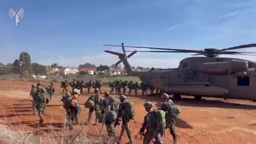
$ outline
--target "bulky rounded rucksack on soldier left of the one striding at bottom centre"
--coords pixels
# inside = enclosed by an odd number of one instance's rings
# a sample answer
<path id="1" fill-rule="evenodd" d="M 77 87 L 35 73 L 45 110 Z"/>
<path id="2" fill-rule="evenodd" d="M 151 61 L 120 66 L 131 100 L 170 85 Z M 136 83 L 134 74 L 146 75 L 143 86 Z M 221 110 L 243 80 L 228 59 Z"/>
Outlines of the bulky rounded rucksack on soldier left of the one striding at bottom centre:
<path id="1" fill-rule="evenodd" d="M 110 105 L 108 105 L 103 117 L 104 123 L 105 124 L 115 123 L 117 119 L 117 111 L 118 111 L 117 103 L 113 102 Z"/>

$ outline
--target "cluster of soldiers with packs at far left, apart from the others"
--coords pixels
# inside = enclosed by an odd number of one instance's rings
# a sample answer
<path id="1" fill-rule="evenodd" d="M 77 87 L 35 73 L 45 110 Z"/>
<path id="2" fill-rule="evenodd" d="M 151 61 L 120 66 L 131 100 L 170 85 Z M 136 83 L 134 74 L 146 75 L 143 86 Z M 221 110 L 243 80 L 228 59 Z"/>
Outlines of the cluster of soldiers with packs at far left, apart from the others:
<path id="1" fill-rule="evenodd" d="M 38 116 L 40 118 L 39 123 L 44 121 L 43 114 L 45 105 L 51 101 L 54 91 L 53 83 L 47 87 L 43 85 L 42 82 L 38 82 L 36 85 L 31 85 L 30 96 L 33 98 L 33 110 L 36 114 L 38 111 Z"/>

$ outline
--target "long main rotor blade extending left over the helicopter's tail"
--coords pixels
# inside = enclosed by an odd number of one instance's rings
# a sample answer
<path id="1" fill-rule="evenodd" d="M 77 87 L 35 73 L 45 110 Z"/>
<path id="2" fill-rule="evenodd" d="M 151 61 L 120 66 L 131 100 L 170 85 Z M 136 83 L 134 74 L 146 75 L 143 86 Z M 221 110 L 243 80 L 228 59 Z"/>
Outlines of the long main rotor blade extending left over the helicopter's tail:
<path id="1" fill-rule="evenodd" d="M 103 44 L 103 45 L 119 46 L 119 47 L 133 47 L 133 48 L 138 48 L 138 49 L 155 49 L 155 50 L 169 50 L 169 51 L 181 51 L 181 52 L 195 52 L 195 53 L 203 52 L 202 50 L 169 49 L 169 48 L 163 48 L 163 47 L 127 46 L 127 45 L 109 45 L 109 44 Z"/>

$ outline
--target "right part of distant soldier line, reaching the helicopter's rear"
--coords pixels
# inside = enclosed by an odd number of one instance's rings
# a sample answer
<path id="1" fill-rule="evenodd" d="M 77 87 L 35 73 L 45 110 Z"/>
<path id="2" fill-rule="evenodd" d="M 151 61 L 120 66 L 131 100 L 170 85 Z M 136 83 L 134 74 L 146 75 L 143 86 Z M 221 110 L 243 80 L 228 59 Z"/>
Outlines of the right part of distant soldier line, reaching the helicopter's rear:
<path id="1" fill-rule="evenodd" d="M 145 93 L 147 94 L 147 84 L 144 84 L 143 82 L 139 83 L 135 82 L 133 83 L 132 81 L 130 81 L 129 83 L 127 81 L 122 81 L 121 79 L 118 81 L 116 79 L 116 81 L 114 82 L 108 82 L 108 86 L 111 87 L 111 91 L 110 93 L 113 93 L 114 90 L 116 92 L 116 94 L 121 94 L 121 89 L 123 89 L 123 94 L 126 94 L 126 86 L 129 89 L 128 94 L 132 94 L 132 90 L 134 90 L 134 94 L 138 95 L 138 89 L 142 90 L 142 95 L 145 95 Z M 154 94 L 154 86 L 150 86 L 150 93 Z M 161 91 L 156 90 L 156 94 L 161 93 Z"/>

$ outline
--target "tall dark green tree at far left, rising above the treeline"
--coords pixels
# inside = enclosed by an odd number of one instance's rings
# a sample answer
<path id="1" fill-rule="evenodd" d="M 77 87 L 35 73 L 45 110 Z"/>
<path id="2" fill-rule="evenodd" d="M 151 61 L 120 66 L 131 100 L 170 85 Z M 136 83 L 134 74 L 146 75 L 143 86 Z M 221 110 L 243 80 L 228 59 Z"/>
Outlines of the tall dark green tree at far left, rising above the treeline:
<path id="1" fill-rule="evenodd" d="M 31 59 L 28 52 L 21 52 L 20 53 L 20 63 L 21 63 L 21 71 L 22 74 L 25 76 L 26 73 L 31 72 Z"/>

